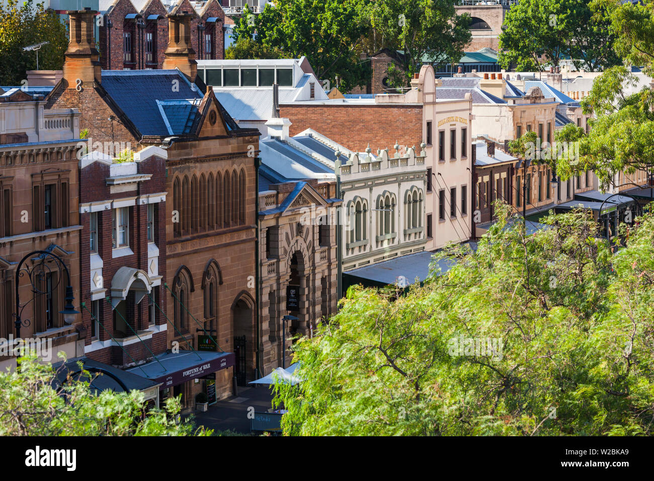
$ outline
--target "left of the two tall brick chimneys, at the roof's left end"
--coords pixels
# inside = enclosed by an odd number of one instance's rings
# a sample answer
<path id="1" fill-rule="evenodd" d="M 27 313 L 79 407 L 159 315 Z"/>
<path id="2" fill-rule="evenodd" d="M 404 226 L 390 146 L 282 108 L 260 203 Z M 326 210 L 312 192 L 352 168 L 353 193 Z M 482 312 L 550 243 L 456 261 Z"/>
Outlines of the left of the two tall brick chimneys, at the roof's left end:
<path id="1" fill-rule="evenodd" d="M 82 84 L 100 82 L 100 53 L 95 48 L 94 10 L 67 10 L 70 18 L 70 40 L 63 62 L 63 80 L 66 88 L 77 88 L 77 79 Z"/>

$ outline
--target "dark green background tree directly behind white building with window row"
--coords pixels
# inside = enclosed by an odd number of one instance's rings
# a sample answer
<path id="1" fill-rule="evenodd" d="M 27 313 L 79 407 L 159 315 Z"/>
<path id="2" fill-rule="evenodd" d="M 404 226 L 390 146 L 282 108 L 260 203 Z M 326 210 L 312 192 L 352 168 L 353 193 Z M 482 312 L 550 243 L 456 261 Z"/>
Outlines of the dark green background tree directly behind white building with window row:
<path id="1" fill-rule="evenodd" d="M 370 66 L 359 62 L 367 26 L 363 0 L 277 0 L 256 18 L 256 41 L 290 58 L 306 56 L 318 79 L 343 91 L 363 86 Z"/>

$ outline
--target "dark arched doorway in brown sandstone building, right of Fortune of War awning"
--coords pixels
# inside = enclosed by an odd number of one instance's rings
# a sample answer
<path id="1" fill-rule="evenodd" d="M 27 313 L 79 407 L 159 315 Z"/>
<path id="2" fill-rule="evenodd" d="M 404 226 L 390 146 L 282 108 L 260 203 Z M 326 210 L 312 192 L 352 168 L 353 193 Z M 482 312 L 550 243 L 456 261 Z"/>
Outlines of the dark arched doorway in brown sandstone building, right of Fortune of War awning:
<path id="1" fill-rule="evenodd" d="M 254 332 L 254 300 L 241 293 L 232 304 L 234 329 L 234 376 L 238 385 L 256 378 L 256 334 Z"/>

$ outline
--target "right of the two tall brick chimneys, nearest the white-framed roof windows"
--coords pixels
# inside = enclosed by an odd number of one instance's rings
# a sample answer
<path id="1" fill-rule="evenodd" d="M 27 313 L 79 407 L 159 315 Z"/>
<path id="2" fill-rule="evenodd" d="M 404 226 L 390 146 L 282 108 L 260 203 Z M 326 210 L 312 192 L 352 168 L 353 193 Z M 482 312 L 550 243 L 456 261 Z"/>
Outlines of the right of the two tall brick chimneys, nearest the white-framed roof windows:
<path id="1" fill-rule="evenodd" d="M 196 51 L 191 47 L 191 14 L 168 14 L 168 48 L 163 52 L 163 69 L 185 73 L 193 82 L 198 75 Z"/>

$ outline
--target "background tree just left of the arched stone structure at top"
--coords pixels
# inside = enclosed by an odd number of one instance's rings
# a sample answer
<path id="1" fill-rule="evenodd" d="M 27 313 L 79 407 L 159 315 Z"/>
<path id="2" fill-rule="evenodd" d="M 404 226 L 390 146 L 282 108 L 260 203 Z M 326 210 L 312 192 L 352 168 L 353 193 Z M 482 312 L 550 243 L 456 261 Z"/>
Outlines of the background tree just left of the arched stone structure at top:
<path id="1" fill-rule="evenodd" d="M 423 63 L 459 60 L 472 35 L 470 16 L 458 15 L 454 0 L 371 1 L 366 16 L 381 45 L 402 50 L 404 86 Z M 370 39 L 368 39 L 370 41 Z M 375 41 L 376 43 L 376 41 Z"/>

